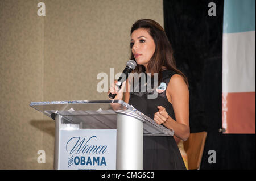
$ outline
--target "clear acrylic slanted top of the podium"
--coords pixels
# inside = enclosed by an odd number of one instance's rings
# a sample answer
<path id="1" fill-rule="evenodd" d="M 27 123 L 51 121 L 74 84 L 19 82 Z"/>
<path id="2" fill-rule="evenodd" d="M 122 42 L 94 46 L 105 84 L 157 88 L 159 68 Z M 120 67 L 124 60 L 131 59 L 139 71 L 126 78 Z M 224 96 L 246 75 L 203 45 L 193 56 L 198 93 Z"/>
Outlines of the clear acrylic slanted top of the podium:
<path id="1" fill-rule="evenodd" d="M 150 117 L 122 100 L 31 102 L 30 106 L 52 119 L 55 119 L 56 114 L 61 115 L 62 124 L 71 125 L 71 129 L 117 129 L 117 113 L 122 113 L 143 121 L 144 135 L 174 135 L 172 129 L 155 123 Z"/>

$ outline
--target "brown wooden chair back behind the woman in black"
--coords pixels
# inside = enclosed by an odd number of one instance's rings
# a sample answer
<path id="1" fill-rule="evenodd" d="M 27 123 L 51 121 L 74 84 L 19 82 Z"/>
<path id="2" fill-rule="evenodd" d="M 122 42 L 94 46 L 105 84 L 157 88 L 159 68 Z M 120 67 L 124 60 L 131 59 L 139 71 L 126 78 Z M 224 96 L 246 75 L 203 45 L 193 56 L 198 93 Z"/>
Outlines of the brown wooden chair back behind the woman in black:
<path id="1" fill-rule="evenodd" d="M 188 157 L 188 170 L 200 169 L 207 132 L 190 133 L 184 141 L 184 150 Z"/>

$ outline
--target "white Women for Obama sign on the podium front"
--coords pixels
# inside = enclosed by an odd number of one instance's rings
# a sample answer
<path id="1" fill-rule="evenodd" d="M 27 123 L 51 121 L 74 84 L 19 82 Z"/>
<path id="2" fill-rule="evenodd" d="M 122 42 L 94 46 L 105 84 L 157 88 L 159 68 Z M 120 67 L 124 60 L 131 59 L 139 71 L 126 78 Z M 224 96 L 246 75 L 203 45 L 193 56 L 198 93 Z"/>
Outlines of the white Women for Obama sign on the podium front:
<path id="1" fill-rule="evenodd" d="M 59 169 L 116 169 L 116 129 L 61 129 Z"/>

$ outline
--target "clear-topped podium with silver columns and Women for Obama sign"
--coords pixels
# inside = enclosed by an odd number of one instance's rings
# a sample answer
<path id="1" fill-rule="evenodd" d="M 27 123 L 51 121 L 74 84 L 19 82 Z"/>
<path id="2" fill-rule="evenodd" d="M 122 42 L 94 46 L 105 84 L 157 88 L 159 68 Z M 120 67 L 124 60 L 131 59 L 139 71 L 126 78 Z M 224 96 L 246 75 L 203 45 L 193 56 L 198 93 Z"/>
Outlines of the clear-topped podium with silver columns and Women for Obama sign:
<path id="1" fill-rule="evenodd" d="M 174 135 L 122 100 L 31 102 L 30 106 L 55 120 L 54 169 L 141 170 L 143 136 Z M 89 145 L 92 141 L 97 142 Z"/>

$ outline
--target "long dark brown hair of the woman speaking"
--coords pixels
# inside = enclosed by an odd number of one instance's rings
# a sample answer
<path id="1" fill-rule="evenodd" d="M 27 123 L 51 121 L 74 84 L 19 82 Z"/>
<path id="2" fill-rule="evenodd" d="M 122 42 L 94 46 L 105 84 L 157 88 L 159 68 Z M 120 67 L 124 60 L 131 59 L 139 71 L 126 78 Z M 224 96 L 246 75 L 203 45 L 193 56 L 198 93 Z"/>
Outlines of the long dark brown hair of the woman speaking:
<path id="1" fill-rule="evenodd" d="M 167 69 L 175 71 L 177 74 L 181 75 L 188 86 L 187 77 L 185 77 L 185 75 L 176 68 L 174 50 L 172 49 L 171 43 L 168 40 L 163 27 L 152 19 L 139 19 L 131 27 L 131 33 L 139 28 L 144 28 L 152 36 L 155 42 L 155 52 L 148 62 L 146 70 L 143 65 L 137 64 L 133 72 L 137 72 L 139 74 L 146 71 L 147 73 L 151 73 L 151 75 L 153 75 L 153 73 L 158 73 L 158 83 L 160 85 L 160 81 L 162 79 L 161 69 L 162 66 L 165 66 Z M 131 48 L 132 47 L 130 46 L 130 50 Z M 130 59 L 135 60 L 132 52 Z"/>

